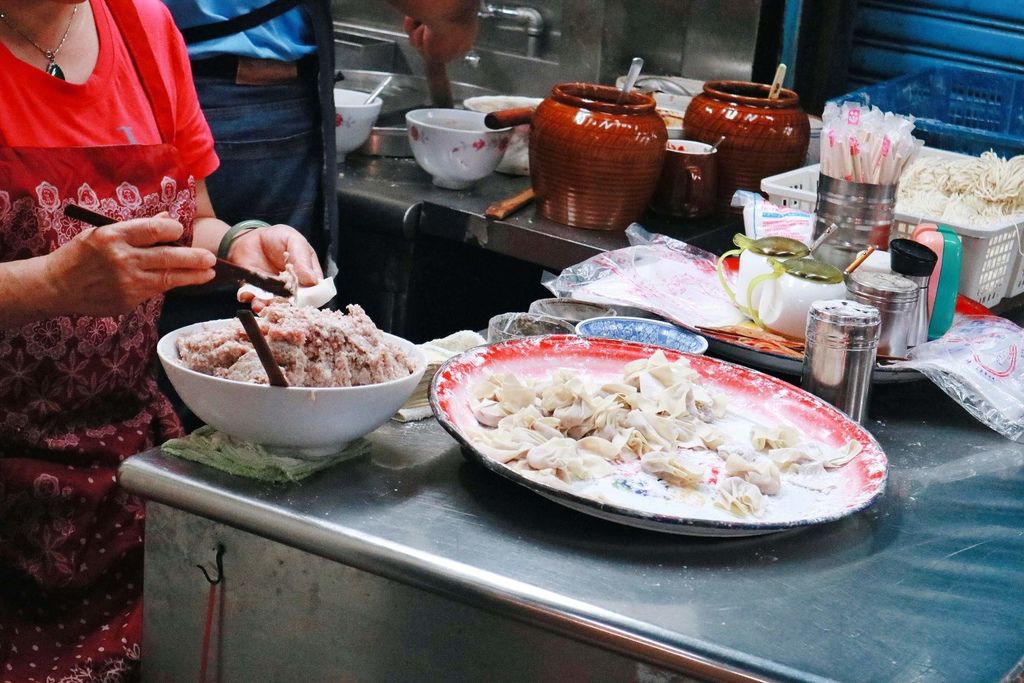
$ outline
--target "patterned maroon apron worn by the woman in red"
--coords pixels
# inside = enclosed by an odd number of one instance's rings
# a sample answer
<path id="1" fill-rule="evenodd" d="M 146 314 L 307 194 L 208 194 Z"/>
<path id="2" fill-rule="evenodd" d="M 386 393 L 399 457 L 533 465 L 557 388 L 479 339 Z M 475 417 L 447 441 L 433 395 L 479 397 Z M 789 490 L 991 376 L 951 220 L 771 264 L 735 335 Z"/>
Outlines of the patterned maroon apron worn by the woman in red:
<path id="1" fill-rule="evenodd" d="M 118 220 L 168 211 L 191 243 L 196 182 L 167 143 L 171 99 L 136 9 L 109 5 L 164 143 L 0 146 L 0 261 L 85 229 L 63 215 L 70 202 Z M 116 475 L 181 431 L 155 379 L 162 302 L 0 330 L 2 681 L 121 681 L 137 669 L 144 511 Z"/>

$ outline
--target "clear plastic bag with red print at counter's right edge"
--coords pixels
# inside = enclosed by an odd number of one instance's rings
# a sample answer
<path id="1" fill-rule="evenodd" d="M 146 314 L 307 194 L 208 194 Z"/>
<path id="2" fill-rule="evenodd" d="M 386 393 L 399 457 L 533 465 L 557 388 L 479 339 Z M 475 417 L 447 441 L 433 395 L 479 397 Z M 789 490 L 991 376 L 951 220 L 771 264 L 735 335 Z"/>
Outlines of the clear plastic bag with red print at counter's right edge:
<path id="1" fill-rule="evenodd" d="M 1024 330 L 1005 317 L 957 316 L 949 332 L 895 365 L 921 372 L 980 422 L 1024 441 Z"/>

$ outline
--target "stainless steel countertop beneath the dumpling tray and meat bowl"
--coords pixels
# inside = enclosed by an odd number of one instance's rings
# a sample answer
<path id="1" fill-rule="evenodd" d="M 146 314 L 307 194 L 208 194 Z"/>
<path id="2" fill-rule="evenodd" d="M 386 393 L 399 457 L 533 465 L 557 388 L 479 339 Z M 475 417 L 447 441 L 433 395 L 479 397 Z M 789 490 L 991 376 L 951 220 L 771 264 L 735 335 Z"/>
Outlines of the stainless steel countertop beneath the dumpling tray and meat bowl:
<path id="1" fill-rule="evenodd" d="M 470 464 L 432 420 L 387 424 L 370 436 L 369 457 L 296 485 L 263 485 L 157 452 L 126 461 L 121 477 L 151 501 L 331 566 L 698 678 L 1019 676 L 1024 446 L 927 383 L 881 388 L 872 416 L 867 426 L 890 459 L 888 489 L 876 507 L 745 540 L 658 535 L 570 511 Z M 154 543 L 169 535 L 150 533 Z M 177 559 L 181 575 L 205 586 L 191 565 L 210 563 L 211 539 L 188 538 L 199 547 Z M 224 561 L 230 577 L 243 558 L 232 560 L 229 550 Z M 272 577 L 264 586 L 274 587 Z M 453 608 L 451 618 L 458 614 Z M 348 618 L 339 615 L 339 628 Z M 201 623 L 186 620 L 197 630 Z M 413 647 L 449 626 L 441 616 L 403 637 Z M 304 656 L 315 656 L 328 636 L 304 636 Z M 487 636 L 462 634 L 468 643 Z M 369 652 L 362 656 L 390 656 Z M 459 659 L 459 652 L 445 656 Z M 478 680 L 510 680 L 500 673 L 479 671 Z"/>

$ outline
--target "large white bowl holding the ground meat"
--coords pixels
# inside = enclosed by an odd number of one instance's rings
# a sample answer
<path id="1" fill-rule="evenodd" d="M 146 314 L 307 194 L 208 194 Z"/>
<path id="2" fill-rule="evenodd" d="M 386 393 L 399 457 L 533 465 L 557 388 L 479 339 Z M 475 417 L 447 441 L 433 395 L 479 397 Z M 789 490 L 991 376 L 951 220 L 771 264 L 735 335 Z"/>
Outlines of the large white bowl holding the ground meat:
<path id="1" fill-rule="evenodd" d="M 357 387 L 271 387 L 226 380 L 189 370 L 178 357 L 176 340 L 204 326 L 198 323 L 164 335 L 157 354 L 174 389 L 207 424 L 239 439 L 290 449 L 297 458 L 318 458 L 369 434 L 412 395 L 426 369 L 423 352 L 410 341 L 385 334 L 413 359 L 412 374 Z"/>

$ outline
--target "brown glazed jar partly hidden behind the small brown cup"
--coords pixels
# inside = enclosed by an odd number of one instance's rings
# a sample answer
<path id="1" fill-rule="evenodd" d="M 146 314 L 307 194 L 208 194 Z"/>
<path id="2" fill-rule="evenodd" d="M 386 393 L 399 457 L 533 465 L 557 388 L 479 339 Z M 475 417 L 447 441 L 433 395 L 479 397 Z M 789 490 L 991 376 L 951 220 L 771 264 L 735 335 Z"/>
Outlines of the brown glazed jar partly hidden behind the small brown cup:
<path id="1" fill-rule="evenodd" d="M 745 81 L 709 81 L 686 108 L 685 136 L 718 146 L 718 208 L 728 211 L 737 189 L 760 191 L 761 179 L 799 168 L 811 126 L 800 97 Z"/>

